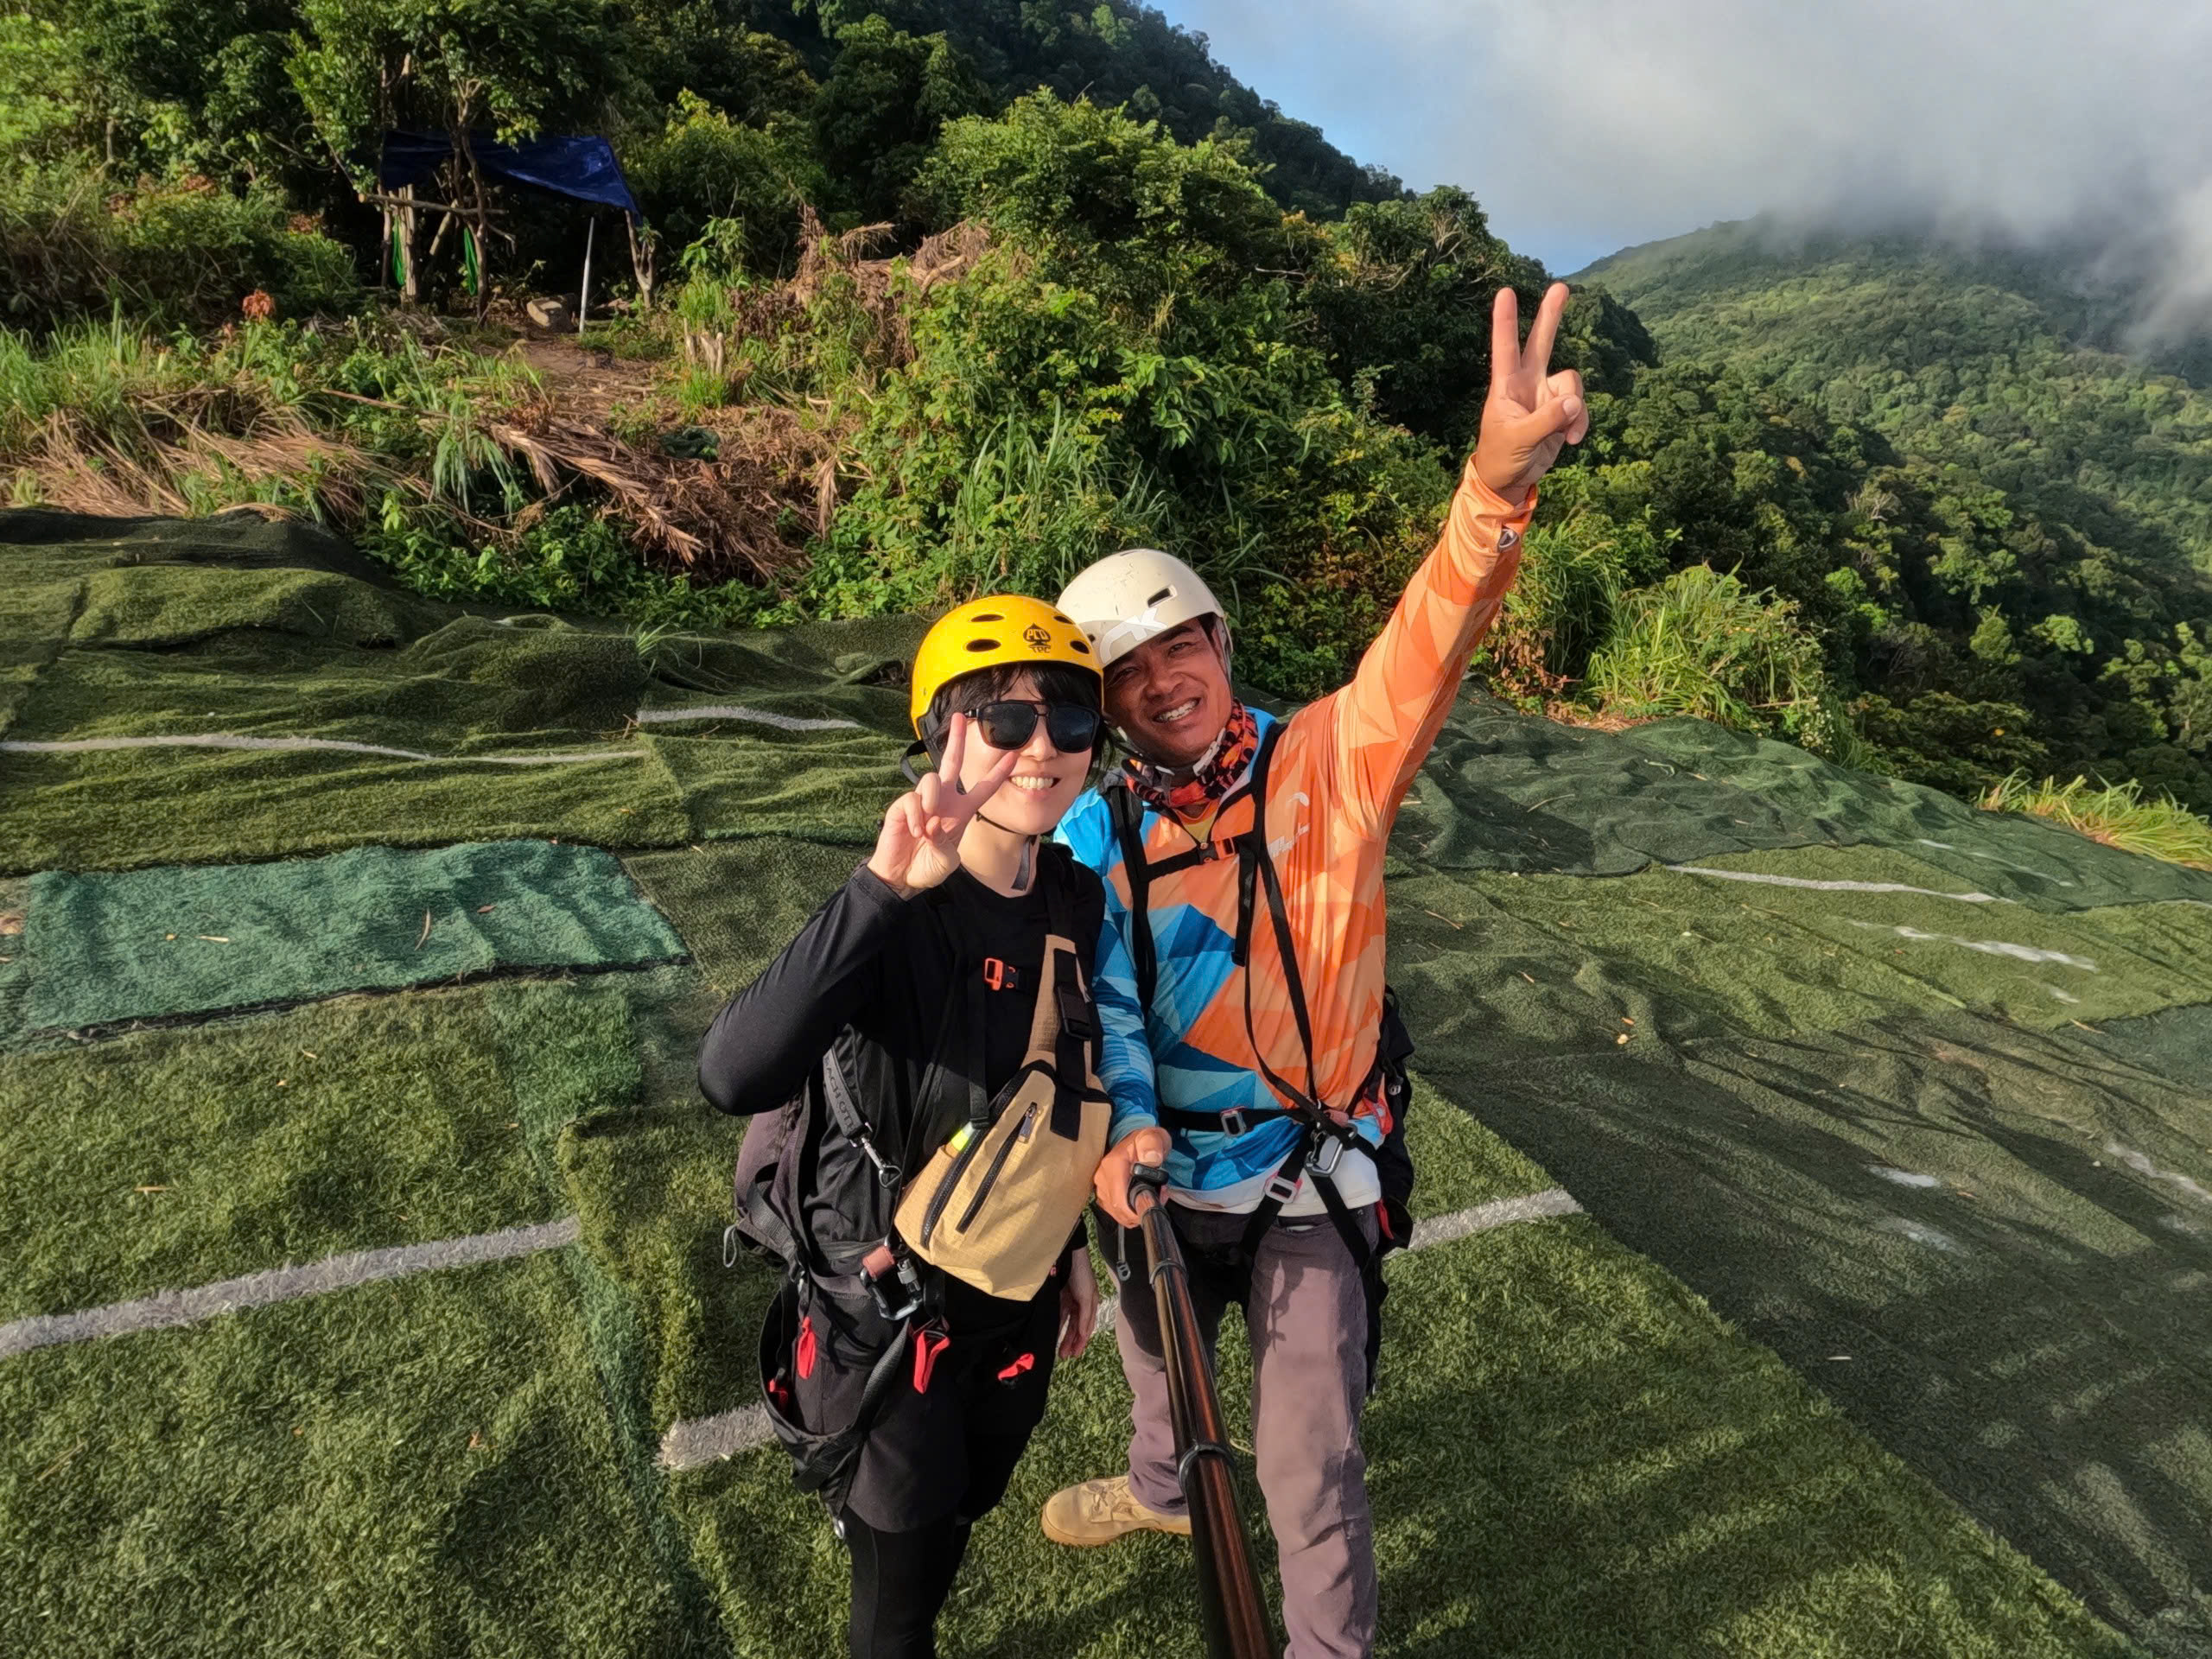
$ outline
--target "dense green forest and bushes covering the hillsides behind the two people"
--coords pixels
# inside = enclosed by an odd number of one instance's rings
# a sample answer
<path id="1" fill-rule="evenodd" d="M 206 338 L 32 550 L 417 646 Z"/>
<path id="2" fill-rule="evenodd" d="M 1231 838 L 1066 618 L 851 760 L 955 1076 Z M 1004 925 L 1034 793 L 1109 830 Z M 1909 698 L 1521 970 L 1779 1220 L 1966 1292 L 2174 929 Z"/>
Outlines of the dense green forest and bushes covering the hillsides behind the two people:
<path id="1" fill-rule="evenodd" d="M 586 212 L 469 219 L 460 164 L 460 217 L 403 212 L 389 128 L 615 144 L 644 221 L 602 219 L 591 349 L 520 310 L 575 299 Z M 0 15 L 0 150 L 11 500 L 303 511 L 664 655 L 1141 540 L 1314 695 L 1433 540 L 1491 294 L 1546 281 L 1121 0 L 46 0 Z M 1604 261 L 1562 345 L 1593 438 L 1478 666 L 2212 807 L 2203 349 L 2115 354 L 2084 270 L 1741 228 Z"/>

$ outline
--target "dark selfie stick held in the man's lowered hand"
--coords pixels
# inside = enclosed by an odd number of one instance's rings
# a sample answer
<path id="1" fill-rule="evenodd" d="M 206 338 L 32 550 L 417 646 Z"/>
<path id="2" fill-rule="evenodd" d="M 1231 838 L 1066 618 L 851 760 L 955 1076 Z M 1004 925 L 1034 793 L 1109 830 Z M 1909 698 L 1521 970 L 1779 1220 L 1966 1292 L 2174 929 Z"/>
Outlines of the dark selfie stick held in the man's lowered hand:
<path id="1" fill-rule="evenodd" d="M 1175 1473 L 1190 1504 L 1190 1542 L 1199 1553 L 1199 1613 L 1206 1619 L 1206 1650 L 1214 1659 L 1272 1659 L 1274 1630 L 1252 1571 L 1243 1515 L 1237 1509 L 1237 1478 L 1230 1436 L 1221 1425 L 1221 1396 L 1199 1340 L 1199 1316 L 1190 1305 L 1190 1274 L 1183 1248 L 1159 1201 L 1168 1172 L 1139 1164 L 1128 1172 L 1128 1203 L 1144 1230 L 1150 1259 L 1152 1305 L 1159 1310 L 1159 1352 L 1168 1369 L 1168 1416 L 1175 1422 Z"/>

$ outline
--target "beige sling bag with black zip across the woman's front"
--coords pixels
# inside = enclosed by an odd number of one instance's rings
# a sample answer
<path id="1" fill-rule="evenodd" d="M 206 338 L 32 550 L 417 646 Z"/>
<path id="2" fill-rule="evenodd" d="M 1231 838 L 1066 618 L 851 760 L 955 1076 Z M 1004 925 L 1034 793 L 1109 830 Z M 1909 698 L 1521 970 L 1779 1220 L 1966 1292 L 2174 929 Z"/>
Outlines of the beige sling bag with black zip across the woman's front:
<path id="1" fill-rule="evenodd" d="M 978 980 L 978 1048 L 980 1002 Z M 1091 1177 L 1106 1155 L 1113 1106 L 1091 1064 L 1095 1040 L 1082 958 L 1062 933 L 1048 933 L 1022 1068 L 995 1099 L 973 1084 L 969 1121 L 898 1199 L 898 1237 L 916 1256 L 987 1296 L 1037 1294 L 1091 1203 Z M 975 1055 L 971 1077 L 980 1075 Z"/>

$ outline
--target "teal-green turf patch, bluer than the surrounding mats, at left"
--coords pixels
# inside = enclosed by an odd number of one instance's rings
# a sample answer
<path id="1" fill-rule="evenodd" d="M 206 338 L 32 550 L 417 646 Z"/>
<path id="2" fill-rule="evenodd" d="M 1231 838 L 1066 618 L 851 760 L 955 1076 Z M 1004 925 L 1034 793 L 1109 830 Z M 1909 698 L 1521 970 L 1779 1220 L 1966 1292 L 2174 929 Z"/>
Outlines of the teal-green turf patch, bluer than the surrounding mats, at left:
<path id="1" fill-rule="evenodd" d="M 611 854 L 544 841 L 49 872 L 31 880 L 22 947 L 31 1029 L 684 953 Z"/>

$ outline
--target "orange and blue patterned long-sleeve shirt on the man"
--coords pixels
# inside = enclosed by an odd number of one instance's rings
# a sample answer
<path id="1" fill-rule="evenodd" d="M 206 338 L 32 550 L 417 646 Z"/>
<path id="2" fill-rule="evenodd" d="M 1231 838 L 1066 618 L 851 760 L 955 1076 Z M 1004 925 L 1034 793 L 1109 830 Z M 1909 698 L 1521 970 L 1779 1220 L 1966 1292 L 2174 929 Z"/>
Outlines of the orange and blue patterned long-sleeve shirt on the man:
<path id="1" fill-rule="evenodd" d="M 1157 984 L 1148 1009 L 1137 1006 L 1126 945 L 1130 885 L 1106 801 L 1086 794 L 1062 821 L 1060 838 L 1106 878 L 1093 980 L 1106 1029 L 1099 1079 L 1115 1099 L 1113 1139 L 1159 1121 L 1159 1106 L 1254 1113 L 1243 1133 L 1170 1130 L 1168 1179 L 1179 1203 L 1250 1210 L 1290 1157 L 1301 1130 L 1259 1075 L 1259 1053 L 1276 1075 L 1327 1106 L 1349 1108 L 1367 1082 L 1383 1015 L 1383 858 L 1391 821 L 1451 712 L 1475 641 L 1513 586 L 1533 509 L 1535 495 L 1517 509 L 1502 502 L 1469 462 L 1442 540 L 1413 573 L 1352 684 L 1292 714 L 1276 741 L 1267 845 L 1314 1026 L 1312 1084 L 1265 914 L 1252 929 L 1250 969 L 1232 960 L 1232 843 L 1252 827 L 1245 785 L 1232 787 L 1206 825 L 1221 856 L 1155 876 L 1150 885 Z M 1267 714 L 1259 721 L 1263 732 L 1272 726 Z M 1152 863 L 1192 849 L 1192 832 L 1170 816 L 1146 810 L 1141 827 Z M 1378 1139 L 1380 1126 L 1367 1117 L 1363 1133 Z M 1347 1157 L 1336 1181 L 1352 1206 L 1378 1197 L 1374 1168 L 1360 1157 Z M 1301 1181 L 1287 1212 L 1316 1208 L 1312 1183 Z"/>

